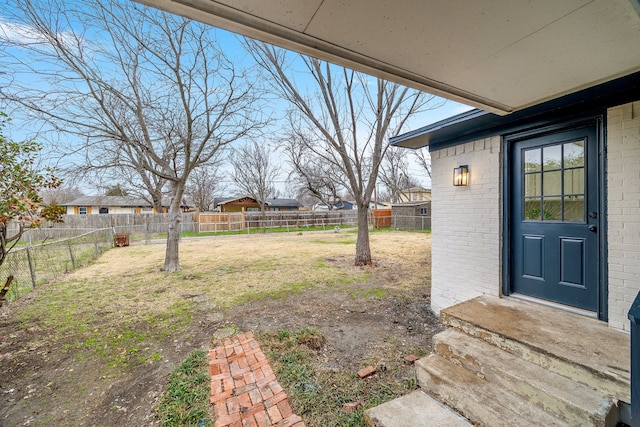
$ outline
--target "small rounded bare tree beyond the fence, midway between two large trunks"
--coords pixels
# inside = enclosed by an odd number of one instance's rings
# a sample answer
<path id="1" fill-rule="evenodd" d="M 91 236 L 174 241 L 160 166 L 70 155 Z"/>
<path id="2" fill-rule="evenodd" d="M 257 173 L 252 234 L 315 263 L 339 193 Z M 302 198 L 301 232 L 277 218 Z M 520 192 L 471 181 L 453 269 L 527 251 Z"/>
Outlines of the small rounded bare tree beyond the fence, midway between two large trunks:
<path id="1" fill-rule="evenodd" d="M 275 181 L 280 167 L 271 158 L 268 145 L 251 141 L 236 148 L 231 156 L 233 181 L 240 191 L 254 198 L 265 211 L 268 198 L 276 197 Z"/>

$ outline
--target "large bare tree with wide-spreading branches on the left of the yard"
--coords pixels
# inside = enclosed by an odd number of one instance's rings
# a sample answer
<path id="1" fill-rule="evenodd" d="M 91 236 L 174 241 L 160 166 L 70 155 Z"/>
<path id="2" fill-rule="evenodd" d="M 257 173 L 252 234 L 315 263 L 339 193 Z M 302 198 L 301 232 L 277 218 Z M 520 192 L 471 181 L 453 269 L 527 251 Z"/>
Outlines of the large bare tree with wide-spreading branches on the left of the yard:
<path id="1" fill-rule="evenodd" d="M 46 120 L 92 163 L 166 180 L 163 269 L 180 268 L 180 204 L 191 172 L 258 129 L 256 82 L 211 26 L 129 1 L 3 3 L 0 96 Z M 28 76 L 28 78 L 23 78 Z M 11 84 L 4 84 L 11 81 Z"/>

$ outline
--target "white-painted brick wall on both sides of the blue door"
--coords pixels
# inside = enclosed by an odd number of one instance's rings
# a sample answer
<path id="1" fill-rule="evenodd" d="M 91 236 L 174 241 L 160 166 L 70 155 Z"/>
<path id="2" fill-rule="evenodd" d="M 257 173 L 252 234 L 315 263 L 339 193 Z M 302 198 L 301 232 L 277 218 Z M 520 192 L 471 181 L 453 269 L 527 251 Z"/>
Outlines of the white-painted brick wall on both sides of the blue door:
<path id="1" fill-rule="evenodd" d="M 609 325 L 628 331 L 640 291 L 640 101 L 610 108 L 606 122 Z M 481 294 L 501 294 L 500 136 L 431 153 L 431 305 L 441 309 Z M 453 168 L 469 165 L 469 186 Z"/>

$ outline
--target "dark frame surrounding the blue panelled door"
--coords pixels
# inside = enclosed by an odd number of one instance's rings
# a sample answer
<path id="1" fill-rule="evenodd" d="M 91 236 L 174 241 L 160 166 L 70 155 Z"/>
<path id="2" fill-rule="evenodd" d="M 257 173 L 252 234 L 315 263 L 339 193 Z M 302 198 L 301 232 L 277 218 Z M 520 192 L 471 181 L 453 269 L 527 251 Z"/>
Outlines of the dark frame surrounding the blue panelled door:
<path id="1" fill-rule="evenodd" d="M 607 248 L 607 181 L 606 181 L 606 134 L 605 134 L 604 113 L 595 116 L 582 117 L 579 119 L 567 120 L 538 126 L 526 130 L 519 130 L 514 133 L 502 135 L 502 295 L 511 294 L 511 277 L 513 275 L 513 236 L 511 233 L 511 193 L 514 180 L 514 170 L 511 168 L 513 147 L 515 142 L 542 137 L 556 132 L 570 131 L 587 126 L 595 128 L 598 141 L 597 145 L 597 183 L 598 193 L 596 197 L 598 209 L 598 311 L 599 320 L 607 321 L 608 313 L 608 248 Z"/>

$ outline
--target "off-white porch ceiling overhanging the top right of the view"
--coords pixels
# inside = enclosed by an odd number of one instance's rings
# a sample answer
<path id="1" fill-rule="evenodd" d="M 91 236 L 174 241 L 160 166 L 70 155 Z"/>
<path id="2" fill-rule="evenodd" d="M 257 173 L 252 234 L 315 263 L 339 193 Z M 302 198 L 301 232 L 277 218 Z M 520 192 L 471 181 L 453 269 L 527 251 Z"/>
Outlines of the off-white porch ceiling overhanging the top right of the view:
<path id="1" fill-rule="evenodd" d="M 507 114 L 640 70 L 639 0 L 139 0 Z"/>

